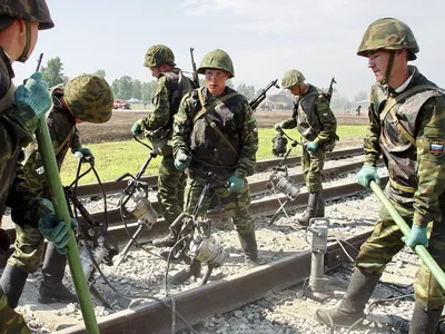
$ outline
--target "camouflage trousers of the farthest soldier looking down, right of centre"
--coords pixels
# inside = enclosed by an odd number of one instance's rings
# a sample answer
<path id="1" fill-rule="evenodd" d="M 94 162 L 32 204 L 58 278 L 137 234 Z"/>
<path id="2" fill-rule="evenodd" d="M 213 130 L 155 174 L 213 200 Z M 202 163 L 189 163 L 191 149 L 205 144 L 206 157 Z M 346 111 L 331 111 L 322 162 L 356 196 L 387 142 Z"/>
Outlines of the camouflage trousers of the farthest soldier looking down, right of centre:
<path id="1" fill-rule="evenodd" d="M 322 171 L 325 166 L 326 151 L 318 148 L 315 153 L 309 153 L 303 147 L 301 168 L 306 187 L 309 191 L 323 190 Z"/>

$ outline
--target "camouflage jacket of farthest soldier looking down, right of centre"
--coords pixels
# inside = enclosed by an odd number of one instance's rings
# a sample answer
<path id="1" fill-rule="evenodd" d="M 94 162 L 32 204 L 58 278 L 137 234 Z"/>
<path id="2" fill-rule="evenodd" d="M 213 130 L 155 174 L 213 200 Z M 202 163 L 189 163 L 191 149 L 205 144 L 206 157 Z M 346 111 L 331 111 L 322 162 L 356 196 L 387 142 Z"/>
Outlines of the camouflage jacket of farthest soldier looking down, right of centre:
<path id="1" fill-rule="evenodd" d="M 337 119 L 330 110 L 329 101 L 314 86 L 298 99 L 293 118 L 284 122 L 284 129 L 297 128 L 306 141 L 315 141 L 323 147 L 334 138 L 338 138 Z"/>

